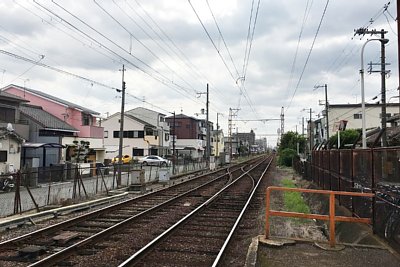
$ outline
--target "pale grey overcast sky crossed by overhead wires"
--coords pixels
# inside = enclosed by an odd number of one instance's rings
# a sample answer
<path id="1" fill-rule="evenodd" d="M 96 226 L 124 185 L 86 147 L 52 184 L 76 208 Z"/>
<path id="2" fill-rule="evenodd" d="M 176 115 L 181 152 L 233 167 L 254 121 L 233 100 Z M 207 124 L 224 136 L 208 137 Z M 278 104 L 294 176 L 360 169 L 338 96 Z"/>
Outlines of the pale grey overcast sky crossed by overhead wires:
<path id="1" fill-rule="evenodd" d="M 379 38 L 354 36 L 360 27 L 388 31 L 387 100 L 399 100 L 396 5 L 387 0 L 2 0 L 0 13 L 1 87 L 40 90 L 103 117 L 120 111 L 124 64 L 126 110 L 205 118 L 196 113 L 208 83 L 214 125 L 220 113 L 227 135 L 232 108 L 234 131 L 275 145 L 281 107 L 285 131 L 301 132 L 310 108 L 321 116 L 315 86 L 328 85 L 330 104 L 360 103 L 361 47 Z M 370 61 L 380 61 L 379 42 L 365 47 Z M 365 92 L 373 103 L 379 73 L 365 76 Z"/>

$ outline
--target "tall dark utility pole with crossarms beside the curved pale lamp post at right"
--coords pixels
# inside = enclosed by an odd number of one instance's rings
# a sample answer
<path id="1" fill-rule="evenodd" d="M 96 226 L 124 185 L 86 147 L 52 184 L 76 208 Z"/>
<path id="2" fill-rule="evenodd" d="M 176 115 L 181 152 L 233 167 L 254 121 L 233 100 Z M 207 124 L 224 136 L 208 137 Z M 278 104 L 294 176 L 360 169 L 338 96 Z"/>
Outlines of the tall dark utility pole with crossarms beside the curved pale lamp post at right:
<path id="1" fill-rule="evenodd" d="M 375 35 L 375 34 L 380 34 L 381 38 L 379 39 L 381 41 L 381 105 L 382 105 L 382 111 L 381 111 L 381 127 L 382 127 L 382 147 L 386 147 L 387 146 L 387 133 L 386 133 L 386 62 L 385 62 L 385 44 L 388 42 L 387 39 L 385 39 L 385 34 L 387 33 L 387 31 L 385 30 L 367 30 L 366 28 L 359 28 L 356 30 L 355 34 L 359 34 L 359 35 L 365 35 L 365 34 L 371 34 L 371 35 Z M 371 66 L 373 64 L 371 63 Z M 374 72 L 374 71 L 371 71 Z"/>

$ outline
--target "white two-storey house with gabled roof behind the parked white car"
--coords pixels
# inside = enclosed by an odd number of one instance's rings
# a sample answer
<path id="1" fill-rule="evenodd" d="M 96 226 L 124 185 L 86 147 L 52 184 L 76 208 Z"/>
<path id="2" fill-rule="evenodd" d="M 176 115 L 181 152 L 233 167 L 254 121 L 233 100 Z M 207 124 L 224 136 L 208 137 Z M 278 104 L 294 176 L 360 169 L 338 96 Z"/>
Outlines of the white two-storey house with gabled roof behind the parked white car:
<path id="1" fill-rule="evenodd" d="M 147 110 L 149 111 L 149 110 Z M 124 113 L 124 131 L 123 131 L 123 155 L 133 157 L 169 154 L 169 127 L 164 125 L 164 117 L 159 113 L 147 112 L 147 116 L 140 116 L 147 119 L 142 120 L 127 111 Z M 156 115 L 158 119 L 154 119 Z M 104 127 L 104 146 L 107 151 L 107 158 L 113 158 L 119 154 L 119 132 L 120 132 L 121 113 L 115 113 L 102 122 Z M 159 121 L 162 120 L 162 121 Z M 162 128 L 154 124 L 163 125 Z"/>

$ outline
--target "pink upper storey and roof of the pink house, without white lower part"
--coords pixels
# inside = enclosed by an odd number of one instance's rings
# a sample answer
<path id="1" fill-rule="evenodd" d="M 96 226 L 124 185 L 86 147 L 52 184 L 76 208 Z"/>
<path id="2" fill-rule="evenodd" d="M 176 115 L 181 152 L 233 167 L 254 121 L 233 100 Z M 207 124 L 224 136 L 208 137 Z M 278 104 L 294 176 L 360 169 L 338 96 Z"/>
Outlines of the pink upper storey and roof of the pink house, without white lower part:
<path id="1" fill-rule="evenodd" d="M 103 138 L 103 127 L 97 125 L 97 117 L 100 115 L 98 112 L 18 85 L 11 84 L 2 90 L 28 100 L 30 104 L 43 107 L 43 110 L 78 129 L 79 133 L 77 137 Z"/>

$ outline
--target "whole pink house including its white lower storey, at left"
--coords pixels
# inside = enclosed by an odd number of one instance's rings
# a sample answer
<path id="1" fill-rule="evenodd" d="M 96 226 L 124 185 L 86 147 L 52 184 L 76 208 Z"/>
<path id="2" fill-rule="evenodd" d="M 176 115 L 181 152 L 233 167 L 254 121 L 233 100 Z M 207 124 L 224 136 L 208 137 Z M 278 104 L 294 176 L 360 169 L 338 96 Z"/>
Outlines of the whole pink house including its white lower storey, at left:
<path id="1" fill-rule="evenodd" d="M 98 117 L 100 114 L 98 112 L 41 91 L 18 85 L 8 85 L 2 91 L 19 96 L 32 105 L 43 107 L 44 111 L 79 131 L 74 136 L 64 136 L 62 139 L 62 145 L 66 147 L 63 151 L 65 158 L 69 154 L 69 150 L 75 146 L 74 142 L 86 141 L 90 143 L 90 148 L 95 151 L 90 161 L 102 162 L 104 160 L 103 127 L 99 126 Z"/>

